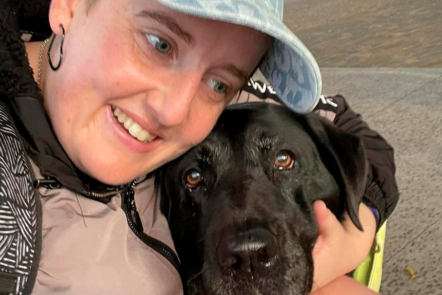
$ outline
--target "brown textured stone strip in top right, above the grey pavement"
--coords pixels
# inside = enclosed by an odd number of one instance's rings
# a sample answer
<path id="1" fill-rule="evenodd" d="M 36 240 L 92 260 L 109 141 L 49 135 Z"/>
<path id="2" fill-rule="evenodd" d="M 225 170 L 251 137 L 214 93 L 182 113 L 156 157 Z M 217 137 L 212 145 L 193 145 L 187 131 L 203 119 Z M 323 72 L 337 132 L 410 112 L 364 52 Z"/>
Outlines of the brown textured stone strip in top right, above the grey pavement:
<path id="1" fill-rule="evenodd" d="M 286 0 L 320 67 L 441 67 L 442 1 Z"/>

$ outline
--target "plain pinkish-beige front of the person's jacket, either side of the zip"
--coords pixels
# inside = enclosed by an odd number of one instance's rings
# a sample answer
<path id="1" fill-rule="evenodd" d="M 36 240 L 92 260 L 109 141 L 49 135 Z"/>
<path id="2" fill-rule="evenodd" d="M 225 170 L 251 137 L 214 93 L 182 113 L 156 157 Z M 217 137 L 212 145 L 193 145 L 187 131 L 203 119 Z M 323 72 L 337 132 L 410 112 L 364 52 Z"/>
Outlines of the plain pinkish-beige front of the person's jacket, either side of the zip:
<path id="1" fill-rule="evenodd" d="M 174 249 L 153 179 L 134 190 L 144 231 Z M 67 189 L 39 191 L 43 246 L 32 294 L 183 293 L 175 268 L 129 228 L 119 195 L 103 204 Z"/>

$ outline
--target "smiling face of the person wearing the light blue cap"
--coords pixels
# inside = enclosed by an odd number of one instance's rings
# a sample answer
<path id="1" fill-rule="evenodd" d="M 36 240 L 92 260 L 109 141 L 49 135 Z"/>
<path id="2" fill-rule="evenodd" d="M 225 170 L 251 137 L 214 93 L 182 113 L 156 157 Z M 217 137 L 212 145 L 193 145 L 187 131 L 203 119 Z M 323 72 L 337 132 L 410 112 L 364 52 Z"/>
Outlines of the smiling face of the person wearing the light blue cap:
<path id="1" fill-rule="evenodd" d="M 153 0 L 53 0 L 65 28 L 59 70 L 47 70 L 45 108 L 75 165 L 127 183 L 207 136 L 265 53 L 269 37 L 175 12 Z M 58 47 L 52 49 L 57 64 Z"/>

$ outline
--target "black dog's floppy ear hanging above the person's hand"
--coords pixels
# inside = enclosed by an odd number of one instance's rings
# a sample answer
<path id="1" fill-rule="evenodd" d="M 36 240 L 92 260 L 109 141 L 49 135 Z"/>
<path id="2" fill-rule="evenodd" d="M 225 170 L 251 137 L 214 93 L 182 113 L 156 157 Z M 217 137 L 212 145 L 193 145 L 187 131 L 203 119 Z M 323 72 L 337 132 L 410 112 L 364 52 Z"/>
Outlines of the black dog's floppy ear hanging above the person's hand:
<path id="1" fill-rule="evenodd" d="M 359 204 L 367 182 L 368 162 L 362 141 L 358 136 L 341 131 L 315 114 L 306 116 L 311 135 L 321 160 L 345 188 L 345 206 L 354 225 L 363 230 L 359 220 Z"/>

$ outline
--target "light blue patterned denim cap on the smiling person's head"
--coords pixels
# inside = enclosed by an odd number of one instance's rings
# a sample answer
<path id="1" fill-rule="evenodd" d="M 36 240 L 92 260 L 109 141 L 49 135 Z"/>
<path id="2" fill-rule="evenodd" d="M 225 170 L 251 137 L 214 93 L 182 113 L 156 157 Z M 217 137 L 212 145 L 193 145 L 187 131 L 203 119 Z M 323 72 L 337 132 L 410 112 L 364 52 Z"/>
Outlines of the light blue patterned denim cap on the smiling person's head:
<path id="1" fill-rule="evenodd" d="M 243 25 L 273 37 L 261 72 L 283 102 L 297 113 L 314 109 L 322 80 L 315 58 L 283 24 L 284 0 L 157 0 L 171 9 Z"/>

